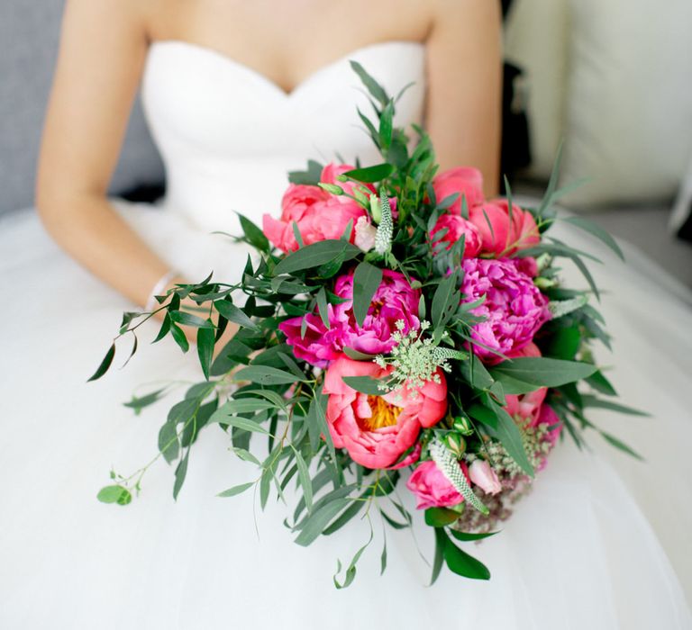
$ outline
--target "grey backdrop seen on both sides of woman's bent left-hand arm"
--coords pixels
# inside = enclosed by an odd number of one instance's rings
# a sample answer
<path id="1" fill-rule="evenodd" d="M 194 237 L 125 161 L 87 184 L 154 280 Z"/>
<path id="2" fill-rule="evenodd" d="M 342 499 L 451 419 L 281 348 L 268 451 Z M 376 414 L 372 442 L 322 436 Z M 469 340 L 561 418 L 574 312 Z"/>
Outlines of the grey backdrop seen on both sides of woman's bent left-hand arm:
<path id="1" fill-rule="evenodd" d="M 33 205 L 63 5 L 64 0 L 0 0 L 0 214 Z M 160 184 L 163 177 L 138 94 L 110 192 Z"/>

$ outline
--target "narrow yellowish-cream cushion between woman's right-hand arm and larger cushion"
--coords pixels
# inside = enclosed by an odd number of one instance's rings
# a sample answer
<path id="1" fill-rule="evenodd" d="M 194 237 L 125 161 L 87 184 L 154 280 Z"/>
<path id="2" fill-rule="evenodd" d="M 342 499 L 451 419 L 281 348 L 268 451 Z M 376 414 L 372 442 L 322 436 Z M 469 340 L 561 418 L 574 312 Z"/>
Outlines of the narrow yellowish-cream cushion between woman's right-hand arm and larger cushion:
<path id="1" fill-rule="evenodd" d="M 609 1 L 609 0 L 606 0 Z M 564 126 L 568 0 L 514 0 L 505 26 L 505 58 L 524 70 L 532 165 L 547 179 Z"/>

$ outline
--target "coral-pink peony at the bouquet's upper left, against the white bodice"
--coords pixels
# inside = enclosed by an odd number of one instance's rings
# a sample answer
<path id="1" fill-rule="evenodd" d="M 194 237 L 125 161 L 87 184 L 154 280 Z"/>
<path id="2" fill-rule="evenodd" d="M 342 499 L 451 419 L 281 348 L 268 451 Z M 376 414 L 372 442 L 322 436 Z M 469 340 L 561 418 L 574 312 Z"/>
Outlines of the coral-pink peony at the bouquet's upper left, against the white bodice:
<path id="1" fill-rule="evenodd" d="M 323 169 L 322 181 L 331 184 L 335 175 L 351 168 L 352 166 L 329 164 Z M 348 183 L 342 187 L 351 190 Z M 360 217 L 367 219 L 368 216 L 368 212 L 349 197 L 327 193 L 319 186 L 290 184 L 281 200 L 281 218 L 276 220 L 265 214 L 262 228 L 275 247 L 290 252 L 298 248 L 294 223 L 297 224 L 303 243 L 312 245 L 321 240 L 341 238 L 349 221 L 355 226 Z M 354 238 L 355 230 L 352 230 L 351 242 Z"/>

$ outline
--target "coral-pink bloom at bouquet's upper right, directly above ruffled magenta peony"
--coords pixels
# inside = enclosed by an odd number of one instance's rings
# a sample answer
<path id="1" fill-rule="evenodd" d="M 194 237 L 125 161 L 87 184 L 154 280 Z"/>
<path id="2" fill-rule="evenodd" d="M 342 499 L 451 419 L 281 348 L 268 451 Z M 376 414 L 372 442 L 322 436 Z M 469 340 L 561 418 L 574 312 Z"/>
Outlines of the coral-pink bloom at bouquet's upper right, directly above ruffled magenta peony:
<path id="1" fill-rule="evenodd" d="M 516 203 L 512 204 L 510 225 L 509 203 L 505 199 L 472 207 L 469 210 L 469 220 L 480 231 L 483 241 L 481 254 L 496 258 L 507 257 L 519 249 L 533 247 L 541 242 L 533 215 L 522 210 Z"/>

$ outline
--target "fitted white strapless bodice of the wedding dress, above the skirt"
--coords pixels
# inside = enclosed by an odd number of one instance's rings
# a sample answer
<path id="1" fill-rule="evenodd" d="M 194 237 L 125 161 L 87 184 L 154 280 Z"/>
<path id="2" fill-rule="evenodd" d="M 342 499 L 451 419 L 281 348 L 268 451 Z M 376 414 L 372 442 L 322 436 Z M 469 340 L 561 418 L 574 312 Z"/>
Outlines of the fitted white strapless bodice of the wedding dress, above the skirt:
<path id="1" fill-rule="evenodd" d="M 391 95 L 396 123 L 422 122 L 423 44 L 385 41 L 354 50 L 286 93 L 266 76 L 214 49 L 179 40 L 151 44 L 142 103 L 166 166 L 162 201 L 200 229 L 234 229 L 234 212 L 259 221 L 277 212 L 287 171 L 308 158 L 378 161 L 357 107 L 372 112 L 349 60 Z"/>

